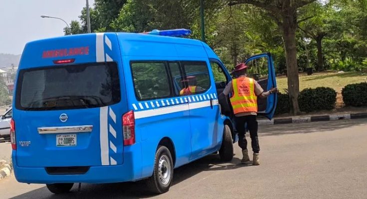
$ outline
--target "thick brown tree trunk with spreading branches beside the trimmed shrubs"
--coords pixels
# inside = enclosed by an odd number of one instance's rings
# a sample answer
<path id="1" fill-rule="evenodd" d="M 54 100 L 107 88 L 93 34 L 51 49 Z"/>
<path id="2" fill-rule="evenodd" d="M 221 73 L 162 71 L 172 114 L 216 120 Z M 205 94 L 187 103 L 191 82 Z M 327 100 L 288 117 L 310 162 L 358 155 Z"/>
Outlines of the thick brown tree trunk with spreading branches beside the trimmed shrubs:
<path id="1" fill-rule="evenodd" d="M 299 8 L 316 0 L 230 0 L 229 5 L 252 4 L 267 11 L 283 32 L 287 54 L 288 91 L 292 103 L 292 113 L 299 114 L 298 96 L 300 83 L 298 77 L 296 30 L 298 24 L 311 17 L 298 19 Z"/>

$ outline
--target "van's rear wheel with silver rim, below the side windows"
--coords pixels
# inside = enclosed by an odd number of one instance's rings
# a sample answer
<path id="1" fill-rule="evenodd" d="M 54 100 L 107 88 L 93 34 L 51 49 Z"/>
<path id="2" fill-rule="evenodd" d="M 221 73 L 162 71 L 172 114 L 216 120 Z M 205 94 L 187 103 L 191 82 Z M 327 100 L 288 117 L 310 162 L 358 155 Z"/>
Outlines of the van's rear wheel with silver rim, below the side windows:
<path id="1" fill-rule="evenodd" d="M 173 179 L 173 160 L 165 146 L 159 146 L 155 153 L 153 175 L 146 181 L 149 190 L 156 194 L 168 192 Z"/>

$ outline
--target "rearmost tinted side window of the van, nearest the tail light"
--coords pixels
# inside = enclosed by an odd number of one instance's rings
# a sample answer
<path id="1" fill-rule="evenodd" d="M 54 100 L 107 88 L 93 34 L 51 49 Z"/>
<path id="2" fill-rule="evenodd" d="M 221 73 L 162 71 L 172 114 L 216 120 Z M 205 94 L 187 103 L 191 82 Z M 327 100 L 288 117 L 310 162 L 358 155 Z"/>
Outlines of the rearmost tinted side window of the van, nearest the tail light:
<path id="1" fill-rule="evenodd" d="M 138 100 L 172 96 L 165 62 L 132 62 L 131 71 Z"/>

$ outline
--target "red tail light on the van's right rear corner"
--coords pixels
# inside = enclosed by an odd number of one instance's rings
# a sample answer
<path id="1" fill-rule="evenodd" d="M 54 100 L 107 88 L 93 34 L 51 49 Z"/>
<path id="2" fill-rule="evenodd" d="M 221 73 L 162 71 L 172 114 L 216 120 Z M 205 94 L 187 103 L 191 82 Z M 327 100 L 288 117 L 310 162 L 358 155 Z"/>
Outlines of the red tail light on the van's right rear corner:
<path id="1" fill-rule="evenodd" d="M 124 145 L 135 144 L 135 117 L 134 111 L 122 115 L 122 129 L 124 134 Z"/>

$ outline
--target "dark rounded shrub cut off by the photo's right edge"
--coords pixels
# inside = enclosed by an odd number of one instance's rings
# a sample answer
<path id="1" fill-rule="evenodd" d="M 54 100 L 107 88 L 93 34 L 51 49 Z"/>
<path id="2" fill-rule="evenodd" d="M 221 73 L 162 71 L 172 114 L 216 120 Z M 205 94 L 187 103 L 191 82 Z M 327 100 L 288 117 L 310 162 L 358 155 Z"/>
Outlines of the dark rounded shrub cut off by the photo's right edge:
<path id="1" fill-rule="evenodd" d="M 367 82 L 347 85 L 343 88 L 342 95 L 346 105 L 367 105 Z"/>

